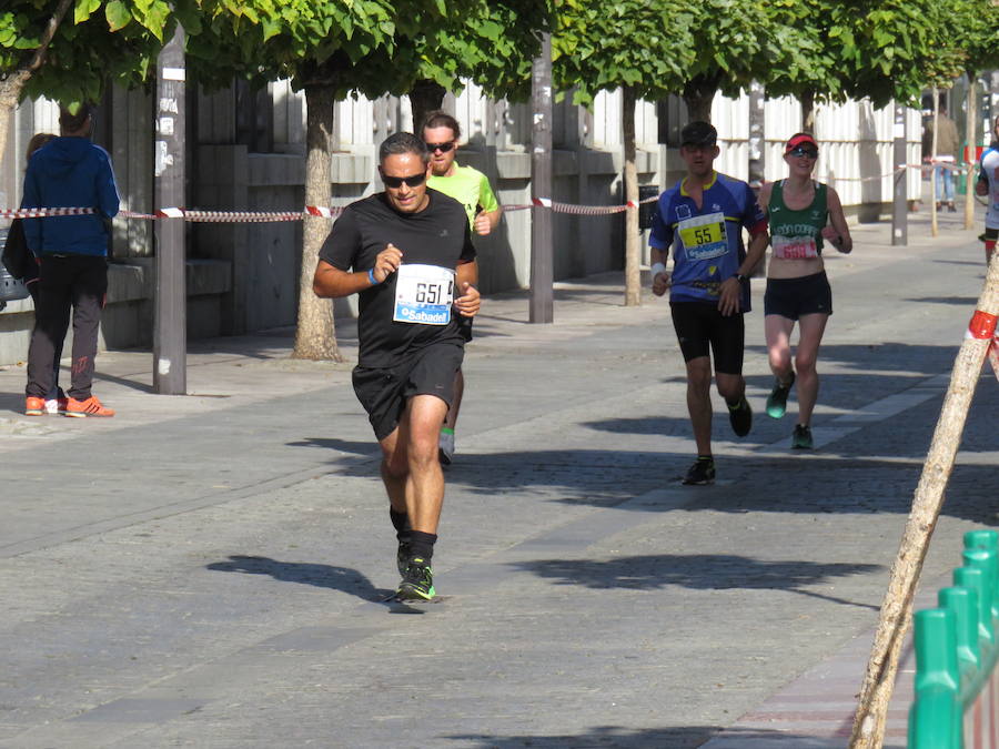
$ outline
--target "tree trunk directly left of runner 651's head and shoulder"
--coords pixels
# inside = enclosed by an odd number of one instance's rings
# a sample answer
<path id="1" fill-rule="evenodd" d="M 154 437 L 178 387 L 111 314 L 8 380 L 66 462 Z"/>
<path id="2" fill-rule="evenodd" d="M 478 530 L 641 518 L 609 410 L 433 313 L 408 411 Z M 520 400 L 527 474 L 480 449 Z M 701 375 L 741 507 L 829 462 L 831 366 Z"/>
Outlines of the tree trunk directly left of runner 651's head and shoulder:
<path id="1" fill-rule="evenodd" d="M 333 87 L 305 84 L 305 204 L 329 206 L 330 159 L 333 135 Z M 342 362 L 333 326 L 333 303 L 312 291 L 319 251 L 330 233 L 330 220 L 305 216 L 302 236 L 302 271 L 299 276 L 299 325 L 293 358 Z"/>

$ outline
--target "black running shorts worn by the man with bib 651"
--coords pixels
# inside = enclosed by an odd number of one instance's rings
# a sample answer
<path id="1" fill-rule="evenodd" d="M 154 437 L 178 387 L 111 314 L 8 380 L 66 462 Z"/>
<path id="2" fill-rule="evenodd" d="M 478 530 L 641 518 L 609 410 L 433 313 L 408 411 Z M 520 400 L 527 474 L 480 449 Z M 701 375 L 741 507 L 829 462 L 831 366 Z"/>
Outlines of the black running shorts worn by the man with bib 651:
<path id="1" fill-rule="evenodd" d="M 406 401 L 414 395 L 436 395 L 448 406 L 454 398 L 454 375 L 465 350 L 456 343 L 434 343 L 420 348 L 395 366 L 354 367 L 354 394 L 367 412 L 375 438 L 384 439 L 398 426 Z"/>

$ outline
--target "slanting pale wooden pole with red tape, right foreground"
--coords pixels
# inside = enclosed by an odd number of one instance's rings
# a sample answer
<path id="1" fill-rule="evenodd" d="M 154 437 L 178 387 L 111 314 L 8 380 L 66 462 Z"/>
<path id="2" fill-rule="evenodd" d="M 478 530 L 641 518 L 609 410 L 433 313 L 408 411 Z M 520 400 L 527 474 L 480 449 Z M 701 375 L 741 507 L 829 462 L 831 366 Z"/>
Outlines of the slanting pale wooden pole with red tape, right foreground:
<path id="1" fill-rule="evenodd" d="M 940 517 L 944 490 L 953 469 L 953 460 L 968 417 L 971 396 L 981 376 L 982 364 L 996 334 L 999 316 L 999 252 L 993 253 L 977 312 L 953 363 L 950 387 L 944 399 L 940 418 L 927 454 L 912 509 L 906 523 L 898 556 L 891 566 L 888 591 L 881 604 L 881 616 L 867 674 L 860 689 L 857 715 L 850 735 L 850 749 L 879 749 L 885 739 L 888 700 L 895 686 L 898 657 L 912 614 L 912 597 L 929 541 Z"/>

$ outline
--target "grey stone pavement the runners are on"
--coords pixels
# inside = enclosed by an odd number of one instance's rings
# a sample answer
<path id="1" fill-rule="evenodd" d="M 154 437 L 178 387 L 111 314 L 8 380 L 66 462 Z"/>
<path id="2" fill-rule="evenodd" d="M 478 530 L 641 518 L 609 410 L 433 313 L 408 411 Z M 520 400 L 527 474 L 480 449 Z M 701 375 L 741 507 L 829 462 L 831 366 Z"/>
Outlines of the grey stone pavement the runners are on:
<path id="1" fill-rule="evenodd" d="M 620 306 L 617 274 L 558 284 L 554 325 L 486 300 L 424 606 L 379 603 L 394 538 L 349 364 L 287 358 L 286 331 L 195 342 L 176 397 L 110 352 L 107 421 L 23 417 L 0 371 L 0 747 L 844 747 L 983 277 L 975 232 L 910 232 L 829 259 L 814 453 L 794 401 L 763 413 L 754 282 L 756 423 L 733 437 L 717 402 L 710 487 L 678 482 L 663 301 Z M 925 593 L 996 525 L 997 408 L 986 371 Z"/>

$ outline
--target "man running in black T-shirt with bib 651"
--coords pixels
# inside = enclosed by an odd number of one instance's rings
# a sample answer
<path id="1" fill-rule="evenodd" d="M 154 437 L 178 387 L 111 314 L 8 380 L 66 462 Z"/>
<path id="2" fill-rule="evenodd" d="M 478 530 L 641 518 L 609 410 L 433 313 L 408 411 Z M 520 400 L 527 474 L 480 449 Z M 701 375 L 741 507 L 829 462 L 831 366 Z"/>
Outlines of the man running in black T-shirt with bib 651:
<path id="1" fill-rule="evenodd" d="M 396 596 L 428 600 L 444 502 L 437 439 L 464 357 L 458 315 L 478 312 L 478 271 L 465 209 L 426 185 L 422 140 L 387 138 L 379 172 L 384 192 L 352 203 L 333 224 L 313 290 L 330 298 L 360 294 L 353 384 L 382 447 L 398 539 Z"/>

